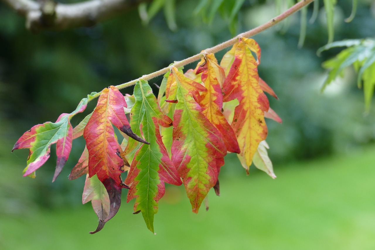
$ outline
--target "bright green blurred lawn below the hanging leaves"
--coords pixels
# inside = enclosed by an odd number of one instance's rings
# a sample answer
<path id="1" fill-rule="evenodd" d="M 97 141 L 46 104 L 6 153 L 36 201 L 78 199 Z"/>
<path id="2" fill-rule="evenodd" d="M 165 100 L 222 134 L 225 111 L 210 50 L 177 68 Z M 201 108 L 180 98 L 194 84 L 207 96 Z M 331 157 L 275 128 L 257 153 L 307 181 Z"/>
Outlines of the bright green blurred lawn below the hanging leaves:
<path id="1" fill-rule="evenodd" d="M 156 235 L 124 197 L 95 235 L 89 234 L 97 226 L 90 204 L 2 216 L 0 248 L 375 249 L 374 152 L 276 164 L 275 180 L 261 171 L 229 171 L 239 167 L 229 158 L 221 196 L 209 194 L 208 212 L 193 214 L 183 188 L 168 186 L 155 215 Z"/>

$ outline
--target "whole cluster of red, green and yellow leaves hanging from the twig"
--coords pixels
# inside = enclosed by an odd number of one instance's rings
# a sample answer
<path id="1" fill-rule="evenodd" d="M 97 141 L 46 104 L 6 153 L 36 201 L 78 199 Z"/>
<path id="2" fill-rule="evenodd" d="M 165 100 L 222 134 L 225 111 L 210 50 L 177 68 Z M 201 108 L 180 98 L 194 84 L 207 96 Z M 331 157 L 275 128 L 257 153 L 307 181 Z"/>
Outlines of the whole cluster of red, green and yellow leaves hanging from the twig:
<path id="1" fill-rule="evenodd" d="M 29 148 L 24 175 L 35 177 L 56 143 L 55 180 L 68 160 L 72 140 L 83 136 L 86 148 L 69 179 L 86 174 L 82 201 L 91 201 L 99 218 L 91 233 L 101 230 L 117 213 L 122 188 L 129 189 L 127 202 L 135 199 L 134 212 L 141 212 L 154 232 L 154 214 L 165 182 L 183 184 L 197 213 L 211 188 L 220 194 L 218 176 L 228 152 L 238 155 L 247 172 L 254 163 L 276 177 L 267 155 L 265 117 L 281 119 L 264 94 L 277 98 L 258 75 L 260 61 L 257 42 L 241 38 L 220 65 L 213 54 L 206 53 L 195 69 L 183 73 L 171 67 L 157 98 L 142 79 L 132 96 L 123 96 L 110 86 L 84 98 L 75 111 L 62 114 L 57 122 L 35 125 L 13 150 Z M 95 110 L 72 128 L 71 117 L 98 96 Z M 116 136 L 114 127 L 123 139 Z"/>

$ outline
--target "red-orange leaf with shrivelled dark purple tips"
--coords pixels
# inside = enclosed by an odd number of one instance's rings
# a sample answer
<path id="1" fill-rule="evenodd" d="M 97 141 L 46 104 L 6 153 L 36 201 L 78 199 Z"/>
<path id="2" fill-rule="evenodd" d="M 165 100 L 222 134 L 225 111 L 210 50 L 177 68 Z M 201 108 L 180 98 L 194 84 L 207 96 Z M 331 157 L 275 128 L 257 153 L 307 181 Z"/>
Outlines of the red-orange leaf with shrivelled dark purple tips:
<path id="1" fill-rule="evenodd" d="M 101 230 L 105 222 L 117 213 L 121 204 L 121 188 L 127 187 L 121 180 L 124 159 L 112 124 L 129 137 L 148 143 L 133 133 L 124 107 L 127 107 L 126 101 L 116 87 L 110 86 L 102 90 L 98 104 L 84 128 L 83 137 L 89 152 L 89 177 L 97 175 L 110 197 L 108 217 L 100 220 L 98 228 L 91 233 Z"/>

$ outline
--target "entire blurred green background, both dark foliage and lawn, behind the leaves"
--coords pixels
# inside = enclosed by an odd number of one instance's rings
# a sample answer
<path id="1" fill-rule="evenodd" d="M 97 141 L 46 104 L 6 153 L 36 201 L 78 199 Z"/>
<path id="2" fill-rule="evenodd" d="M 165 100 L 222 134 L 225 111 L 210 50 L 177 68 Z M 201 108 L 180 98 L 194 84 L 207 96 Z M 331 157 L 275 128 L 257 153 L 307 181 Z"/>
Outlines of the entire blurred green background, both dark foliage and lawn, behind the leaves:
<path id="1" fill-rule="evenodd" d="M 198 2 L 178 1 L 175 31 L 162 12 L 142 25 L 133 9 L 93 27 L 39 34 L 28 32 L 24 18 L 0 3 L 0 249 L 375 248 L 375 108 L 364 114 L 352 68 L 320 93 L 327 76 L 321 63 L 340 51 L 316 56 L 327 43 L 323 9 L 308 24 L 302 48 L 297 47 L 299 14 L 254 36 L 263 52 L 260 76 L 280 99 L 270 97 L 270 103 L 283 124 L 267 120 L 276 180 L 254 167 L 246 176 L 235 155 L 228 155 L 220 173 L 221 196 L 210 193 L 210 210 L 192 214 L 183 188 L 168 186 L 154 236 L 141 215 L 131 214 L 126 193 L 118 214 L 89 235 L 97 217 L 90 204 L 80 204 L 84 178 L 66 177 L 84 148 L 82 138 L 74 141 L 53 184 L 53 153 L 36 179 L 22 177 L 28 151 L 10 150 L 33 125 L 71 112 L 92 91 L 192 56 L 233 37 L 234 29 L 240 33 L 265 23 L 278 14 L 275 2 L 287 1 L 245 1 L 232 24 L 225 11 L 205 22 L 195 12 Z M 336 41 L 374 36 L 374 1 L 359 1 L 356 18 L 344 23 L 351 4 L 342 0 L 335 8 Z"/>

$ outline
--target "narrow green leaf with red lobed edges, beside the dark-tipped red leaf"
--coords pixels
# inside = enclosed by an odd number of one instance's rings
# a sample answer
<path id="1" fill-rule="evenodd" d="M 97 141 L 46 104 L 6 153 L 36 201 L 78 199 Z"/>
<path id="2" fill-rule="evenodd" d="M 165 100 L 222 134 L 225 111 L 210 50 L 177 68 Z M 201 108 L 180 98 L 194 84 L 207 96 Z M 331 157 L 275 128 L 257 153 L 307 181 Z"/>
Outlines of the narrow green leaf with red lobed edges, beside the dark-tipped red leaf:
<path id="1" fill-rule="evenodd" d="M 159 132 L 159 125 L 170 127 L 172 120 L 162 113 L 151 87 L 144 80 L 134 87 L 135 104 L 131 111 L 130 125 L 133 131 L 143 135 L 149 145 L 136 151 L 125 183 L 130 190 L 127 202 L 135 198 L 134 211 L 141 211 L 147 228 L 154 232 L 154 214 L 164 195 L 164 182 L 181 185 L 178 173 L 169 159 Z"/>

